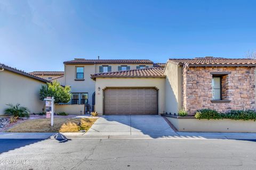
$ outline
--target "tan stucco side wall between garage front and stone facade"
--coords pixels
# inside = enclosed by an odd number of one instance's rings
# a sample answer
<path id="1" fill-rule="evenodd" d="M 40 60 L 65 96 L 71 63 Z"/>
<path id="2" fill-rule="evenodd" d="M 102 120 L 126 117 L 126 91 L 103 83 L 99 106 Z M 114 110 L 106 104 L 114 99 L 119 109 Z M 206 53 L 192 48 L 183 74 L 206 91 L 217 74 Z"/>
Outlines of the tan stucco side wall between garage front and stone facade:
<path id="1" fill-rule="evenodd" d="M 182 106 L 182 67 L 167 63 L 165 79 L 165 112 L 178 113 Z"/>

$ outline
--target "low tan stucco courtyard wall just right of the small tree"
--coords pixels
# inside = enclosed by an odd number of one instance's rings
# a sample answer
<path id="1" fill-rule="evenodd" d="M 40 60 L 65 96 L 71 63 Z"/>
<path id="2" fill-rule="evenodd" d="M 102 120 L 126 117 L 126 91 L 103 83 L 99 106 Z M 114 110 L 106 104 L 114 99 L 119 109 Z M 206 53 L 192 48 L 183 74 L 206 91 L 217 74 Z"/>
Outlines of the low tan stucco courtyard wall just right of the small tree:
<path id="1" fill-rule="evenodd" d="M 84 114 L 84 105 L 55 105 L 55 113 L 66 112 L 70 115 Z"/>

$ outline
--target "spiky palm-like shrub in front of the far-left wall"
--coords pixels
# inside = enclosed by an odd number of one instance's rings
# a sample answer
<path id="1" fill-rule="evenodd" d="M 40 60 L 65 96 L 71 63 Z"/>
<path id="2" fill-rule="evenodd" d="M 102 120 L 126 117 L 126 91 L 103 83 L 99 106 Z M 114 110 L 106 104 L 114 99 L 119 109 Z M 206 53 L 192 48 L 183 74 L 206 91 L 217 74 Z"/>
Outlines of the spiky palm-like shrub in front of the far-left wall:
<path id="1" fill-rule="evenodd" d="M 15 106 L 12 104 L 7 104 L 9 108 L 4 109 L 4 114 L 13 115 L 13 117 L 29 117 L 29 109 L 27 107 L 22 107 L 20 104 Z"/>

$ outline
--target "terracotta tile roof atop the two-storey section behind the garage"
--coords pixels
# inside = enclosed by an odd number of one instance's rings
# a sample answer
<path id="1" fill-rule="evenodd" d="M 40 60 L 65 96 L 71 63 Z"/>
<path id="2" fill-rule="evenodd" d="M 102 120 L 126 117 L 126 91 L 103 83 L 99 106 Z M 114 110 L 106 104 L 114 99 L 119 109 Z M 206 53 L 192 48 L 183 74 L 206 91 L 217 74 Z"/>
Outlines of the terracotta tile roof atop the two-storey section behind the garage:
<path id="1" fill-rule="evenodd" d="M 75 60 L 63 62 L 64 64 L 153 64 L 151 60 L 85 60 L 75 58 Z"/>

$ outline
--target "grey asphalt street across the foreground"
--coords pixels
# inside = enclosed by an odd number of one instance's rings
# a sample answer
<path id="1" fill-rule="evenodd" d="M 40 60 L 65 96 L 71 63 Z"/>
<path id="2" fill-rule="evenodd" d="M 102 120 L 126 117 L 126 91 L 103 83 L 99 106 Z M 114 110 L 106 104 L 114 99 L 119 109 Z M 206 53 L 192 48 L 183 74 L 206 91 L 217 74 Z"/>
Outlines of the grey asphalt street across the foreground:
<path id="1" fill-rule="evenodd" d="M 0 169 L 255 169 L 256 143 L 223 139 L 0 140 Z"/>

